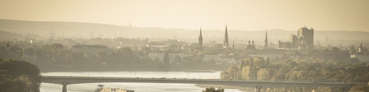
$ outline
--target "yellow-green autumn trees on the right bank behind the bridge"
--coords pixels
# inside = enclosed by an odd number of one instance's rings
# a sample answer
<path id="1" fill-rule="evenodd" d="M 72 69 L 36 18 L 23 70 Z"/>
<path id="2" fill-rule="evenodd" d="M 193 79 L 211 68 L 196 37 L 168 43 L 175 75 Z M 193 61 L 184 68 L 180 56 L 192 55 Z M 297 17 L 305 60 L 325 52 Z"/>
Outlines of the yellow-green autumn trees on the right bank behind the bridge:
<path id="1" fill-rule="evenodd" d="M 231 66 L 221 72 L 222 79 L 288 81 L 289 79 L 327 79 L 336 82 L 367 82 L 369 64 L 325 61 L 314 59 L 283 60 L 270 63 L 264 59 L 245 59 L 238 66 Z M 282 74 L 282 78 L 281 78 Z M 271 92 L 296 91 L 338 92 L 342 88 L 335 87 L 295 87 L 267 89 Z"/>

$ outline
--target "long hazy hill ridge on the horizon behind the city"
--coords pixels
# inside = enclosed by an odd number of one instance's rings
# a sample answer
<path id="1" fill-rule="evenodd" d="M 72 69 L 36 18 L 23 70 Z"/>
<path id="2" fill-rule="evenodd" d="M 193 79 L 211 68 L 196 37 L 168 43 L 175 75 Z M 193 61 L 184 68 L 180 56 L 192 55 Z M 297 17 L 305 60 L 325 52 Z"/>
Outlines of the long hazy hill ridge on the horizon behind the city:
<path id="1" fill-rule="evenodd" d="M 268 29 L 269 42 L 278 40 L 289 40 L 290 34 L 297 34 L 297 29 L 302 26 L 296 26 L 296 31 L 286 31 L 282 29 Z M 206 28 L 211 29 L 211 28 Z M 228 27 L 228 29 L 232 29 Z M 51 31 L 55 32 L 56 37 L 65 38 L 103 38 L 128 37 L 128 38 L 170 38 L 186 40 L 187 42 L 197 42 L 199 30 L 188 29 L 167 29 L 167 28 L 144 28 L 134 26 L 117 26 L 109 24 L 93 24 L 83 22 L 55 22 L 55 21 L 21 21 L 21 20 L 0 20 L 0 30 L 20 34 L 32 33 L 40 36 L 49 36 Z M 332 44 L 356 44 L 358 40 L 368 40 L 369 32 L 361 31 L 319 31 L 315 29 L 314 40 L 320 40 L 322 45 L 325 37 L 332 39 Z M 265 39 L 265 30 L 261 31 L 242 31 L 228 30 L 230 41 L 235 43 L 246 43 L 247 40 L 255 40 L 258 45 L 263 45 Z M 221 43 L 224 37 L 224 30 L 203 30 L 204 42 L 215 40 Z M 344 40 L 341 40 L 344 39 Z M 356 40 L 356 41 L 354 41 Z M 330 41 L 329 41 L 330 42 Z M 315 42 L 314 42 L 315 43 Z"/>

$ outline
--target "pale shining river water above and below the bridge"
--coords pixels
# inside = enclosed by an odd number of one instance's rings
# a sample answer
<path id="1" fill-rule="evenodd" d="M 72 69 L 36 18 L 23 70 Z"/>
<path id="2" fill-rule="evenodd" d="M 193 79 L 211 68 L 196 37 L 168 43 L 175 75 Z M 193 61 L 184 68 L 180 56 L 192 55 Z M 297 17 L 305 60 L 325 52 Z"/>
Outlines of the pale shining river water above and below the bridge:
<path id="1" fill-rule="evenodd" d="M 184 72 L 184 71 L 102 71 L 102 72 L 42 72 L 43 76 L 90 76 L 90 77 L 142 77 L 142 78 L 196 78 L 218 79 L 221 71 L 215 72 Z M 120 88 L 135 92 L 201 92 L 205 88 L 196 84 L 165 84 L 165 83 L 89 83 L 67 86 L 68 92 L 94 92 L 98 84 L 106 88 Z M 61 92 L 62 85 L 42 83 L 41 92 Z M 225 92 L 242 92 L 238 89 L 225 89 Z"/>

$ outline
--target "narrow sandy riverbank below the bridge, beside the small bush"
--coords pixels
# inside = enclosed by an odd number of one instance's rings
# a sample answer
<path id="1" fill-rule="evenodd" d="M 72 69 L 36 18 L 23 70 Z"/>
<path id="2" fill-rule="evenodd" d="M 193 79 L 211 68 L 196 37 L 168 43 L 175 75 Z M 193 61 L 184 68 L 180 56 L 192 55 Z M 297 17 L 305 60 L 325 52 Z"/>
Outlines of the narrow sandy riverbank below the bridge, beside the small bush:
<path id="1" fill-rule="evenodd" d="M 196 84 L 196 86 L 200 86 L 201 88 L 213 87 L 216 89 L 220 87 L 220 88 L 224 88 L 225 91 L 227 91 L 227 89 L 239 89 L 239 91 L 244 91 L 244 92 L 254 92 L 255 91 L 254 88 L 245 88 L 245 87 L 240 87 L 240 86 L 209 85 L 209 84 Z"/>

